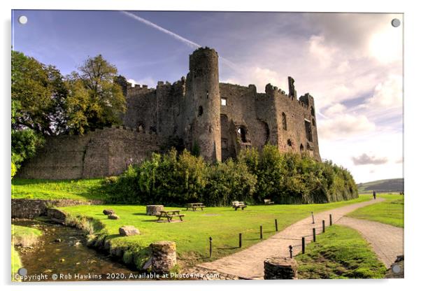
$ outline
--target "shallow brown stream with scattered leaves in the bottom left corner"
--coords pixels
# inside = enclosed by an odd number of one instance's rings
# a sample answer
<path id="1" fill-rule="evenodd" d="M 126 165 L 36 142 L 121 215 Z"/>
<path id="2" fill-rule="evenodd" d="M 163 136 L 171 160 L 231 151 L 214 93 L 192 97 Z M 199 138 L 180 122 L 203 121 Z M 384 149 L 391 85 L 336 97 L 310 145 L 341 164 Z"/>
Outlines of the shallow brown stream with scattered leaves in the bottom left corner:
<path id="1" fill-rule="evenodd" d="M 139 274 L 106 253 L 87 248 L 85 235 L 79 229 L 37 220 L 12 223 L 43 231 L 34 246 L 15 247 L 27 276 L 31 276 L 22 281 L 120 281 Z"/>

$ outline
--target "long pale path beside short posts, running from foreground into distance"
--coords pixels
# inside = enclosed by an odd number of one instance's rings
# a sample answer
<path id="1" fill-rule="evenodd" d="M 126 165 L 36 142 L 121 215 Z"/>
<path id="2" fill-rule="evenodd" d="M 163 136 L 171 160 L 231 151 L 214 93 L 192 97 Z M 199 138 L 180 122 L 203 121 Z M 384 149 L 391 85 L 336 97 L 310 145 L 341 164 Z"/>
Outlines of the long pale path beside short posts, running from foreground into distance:
<path id="1" fill-rule="evenodd" d="M 364 201 L 317 213 L 314 215 L 315 225 L 313 225 L 311 216 L 309 216 L 304 220 L 295 222 L 293 225 L 290 225 L 261 243 L 256 243 L 250 246 L 250 248 L 246 248 L 227 257 L 222 257 L 219 260 L 199 264 L 197 267 L 231 276 L 238 276 L 238 278 L 243 279 L 262 279 L 264 276 L 263 262 L 266 258 L 289 256 L 288 246 L 290 245 L 296 246 L 293 248 L 294 255 L 300 253 L 301 238 L 306 236 L 306 242 L 310 242 L 312 240 L 313 227 L 316 227 L 316 233 L 320 234 L 322 232 L 322 220 L 325 220 L 326 226 L 328 227 L 329 213 L 333 215 L 335 223 L 346 213 L 380 201 L 384 201 L 384 199 L 378 198 L 376 200 Z"/>

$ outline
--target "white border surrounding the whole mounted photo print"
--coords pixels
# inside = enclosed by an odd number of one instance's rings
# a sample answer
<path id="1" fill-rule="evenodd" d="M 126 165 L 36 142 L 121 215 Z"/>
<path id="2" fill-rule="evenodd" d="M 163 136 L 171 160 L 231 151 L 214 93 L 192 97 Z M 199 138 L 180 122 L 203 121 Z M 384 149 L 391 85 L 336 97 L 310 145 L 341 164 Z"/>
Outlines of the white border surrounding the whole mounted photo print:
<path id="1" fill-rule="evenodd" d="M 220 288 L 241 288 L 241 290 L 256 290 L 260 286 L 263 288 L 291 288 L 292 290 L 352 290 L 376 288 L 380 290 L 411 290 L 411 286 L 417 285 L 418 270 L 420 260 L 420 207 L 421 192 L 418 191 L 417 183 L 420 173 L 420 9 L 416 7 L 416 1 L 187 1 L 187 0 L 166 0 L 166 1 L 135 1 L 135 0 L 69 0 L 69 1 L 48 1 L 48 0 L 14 0 L 1 1 L 1 57 L 3 64 L 1 69 L 1 127 L 0 134 L 3 137 L 1 143 L 1 185 L 3 203 L 3 239 L 1 239 L 1 250 L 3 260 L 1 260 L 1 278 L 6 290 L 115 290 L 124 288 L 157 290 L 168 288 L 171 290 L 212 290 Z M 356 280 L 356 281 L 294 281 L 294 282 L 159 282 L 159 283 L 76 283 L 69 287 L 60 283 L 41 284 L 19 284 L 10 285 L 10 10 L 14 9 L 82 9 L 82 10 L 242 10 L 242 11 L 311 11 L 311 12 L 394 12 L 405 13 L 405 134 L 404 153 L 405 159 L 405 192 L 406 192 L 406 233 L 405 233 L 405 253 L 406 253 L 406 278 L 404 280 Z M 107 284 L 107 285 L 106 285 Z M 419 285 L 419 284 L 418 284 Z M 26 288 L 24 288 L 26 286 Z"/>

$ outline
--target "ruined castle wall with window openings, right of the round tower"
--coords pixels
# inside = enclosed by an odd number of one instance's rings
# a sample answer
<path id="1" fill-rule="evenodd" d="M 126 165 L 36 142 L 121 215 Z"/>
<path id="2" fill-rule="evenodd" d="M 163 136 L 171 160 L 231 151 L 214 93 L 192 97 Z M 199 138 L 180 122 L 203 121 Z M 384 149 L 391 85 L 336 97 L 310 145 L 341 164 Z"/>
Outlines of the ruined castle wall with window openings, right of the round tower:
<path id="1" fill-rule="evenodd" d="M 270 143 L 281 152 L 307 151 L 320 160 L 313 97 L 306 95 L 297 100 L 295 94 L 287 96 L 270 84 L 265 91 L 257 93 L 254 85 L 220 83 L 221 98 L 227 102 L 221 106 L 223 159 L 235 157 L 241 148 L 260 149 Z M 306 120 L 310 128 L 306 128 Z M 245 140 L 238 133 L 242 127 Z M 307 132 L 311 132 L 310 136 Z"/>

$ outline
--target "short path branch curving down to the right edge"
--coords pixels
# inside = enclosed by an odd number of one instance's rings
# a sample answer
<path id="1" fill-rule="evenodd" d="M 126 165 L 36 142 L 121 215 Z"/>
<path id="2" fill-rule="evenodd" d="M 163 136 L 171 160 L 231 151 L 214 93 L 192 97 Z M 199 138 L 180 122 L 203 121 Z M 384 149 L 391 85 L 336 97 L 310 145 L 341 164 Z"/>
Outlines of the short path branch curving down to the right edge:
<path id="1" fill-rule="evenodd" d="M 404 229 L 401 227 L 348 217 L 343 217 L 336 223 L 352 227 L 362 234 L 387 269 L 398 255 L 404 255 Z"/>

